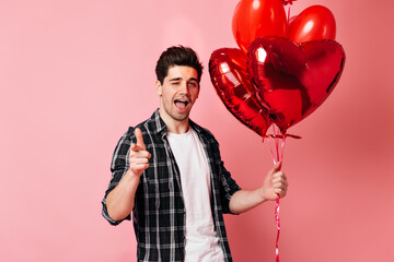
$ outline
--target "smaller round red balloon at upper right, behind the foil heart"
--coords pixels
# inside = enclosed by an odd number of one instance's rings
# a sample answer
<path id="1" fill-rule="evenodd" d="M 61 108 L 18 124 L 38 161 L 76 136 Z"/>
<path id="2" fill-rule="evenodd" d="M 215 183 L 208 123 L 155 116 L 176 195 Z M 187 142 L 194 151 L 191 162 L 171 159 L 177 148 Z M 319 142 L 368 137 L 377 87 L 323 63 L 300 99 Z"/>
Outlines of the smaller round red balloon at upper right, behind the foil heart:
<path id="1" fill-rule="evenodd" d="M 288 37 L 299 44 L 309 40 L 335 40 L 334 14 L 323 5 L 312 5 L 291 17 Z"/>

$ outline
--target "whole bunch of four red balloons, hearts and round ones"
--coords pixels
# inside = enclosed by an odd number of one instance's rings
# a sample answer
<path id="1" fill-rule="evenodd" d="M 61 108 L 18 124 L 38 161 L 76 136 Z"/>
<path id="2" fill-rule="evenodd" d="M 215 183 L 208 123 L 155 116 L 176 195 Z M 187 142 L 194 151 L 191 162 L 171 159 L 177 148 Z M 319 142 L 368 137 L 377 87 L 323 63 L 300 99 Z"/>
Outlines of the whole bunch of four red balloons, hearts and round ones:
<path id="1" fill-rule="evenodd" d="M 242 123 L 265 136 L 311 115 L 333 92 L 345 64 L 333 13 L 313 5 L 287 19 L 282 0 L 241 0 L 232 31 L 237 48 L 215 50 L 213 86 Z"/>

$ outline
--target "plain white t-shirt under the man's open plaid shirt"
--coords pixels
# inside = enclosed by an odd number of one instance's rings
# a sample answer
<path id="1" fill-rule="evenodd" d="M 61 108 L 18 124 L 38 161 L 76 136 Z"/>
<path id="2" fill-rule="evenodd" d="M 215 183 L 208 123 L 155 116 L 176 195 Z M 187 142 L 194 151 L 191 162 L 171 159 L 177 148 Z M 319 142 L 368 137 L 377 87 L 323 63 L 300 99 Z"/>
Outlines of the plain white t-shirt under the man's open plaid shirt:
<path id="1" fill-rule="evenodd" d="M 210 206 L 210 168 L 197 133 L 167 133 L 170 147 L 181 171 L 186 209 L 186 262 L 223 262 Z"/>

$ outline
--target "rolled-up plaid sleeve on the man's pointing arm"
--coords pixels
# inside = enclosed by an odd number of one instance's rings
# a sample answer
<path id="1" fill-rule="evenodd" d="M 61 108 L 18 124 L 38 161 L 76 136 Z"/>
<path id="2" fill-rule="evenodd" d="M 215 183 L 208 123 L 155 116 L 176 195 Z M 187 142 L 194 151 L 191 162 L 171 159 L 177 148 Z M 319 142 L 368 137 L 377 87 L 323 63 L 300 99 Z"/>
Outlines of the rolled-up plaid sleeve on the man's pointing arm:
<path id="1" fill-rule="evenodd" d="M 120 138 L 119 142 L 117 143 L 113 159 L 111 163 L 111 171 L 112 171 L 112 178 L 108 184 L 108 189 L 105 191 L 104 199 L 102 201 L 103 204 L 103 211 L 102 215 L 109 222 L 111 225 L 116 226 L 120 224 L 123 221 L 131 219 L 131 215 L 129 214 L 127 217 L 120 221 L 114 221 L 109 215 L 106 206 L 106 198 L 108 193 L 119 183 L 123 176 L 127 172 L 129 168 L 129 150 L 131 144 L 131 136 L 134 135 L 134 129 L 129 128 L 128 131 Z"/>

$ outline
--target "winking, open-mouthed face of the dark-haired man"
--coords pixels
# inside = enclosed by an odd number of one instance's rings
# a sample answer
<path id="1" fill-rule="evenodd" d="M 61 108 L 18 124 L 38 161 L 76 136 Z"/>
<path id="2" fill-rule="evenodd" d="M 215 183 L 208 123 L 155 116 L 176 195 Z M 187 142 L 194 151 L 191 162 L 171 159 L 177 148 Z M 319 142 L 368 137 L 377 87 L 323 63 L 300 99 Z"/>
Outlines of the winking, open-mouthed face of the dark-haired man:
<path id="1" fill-rule="evenodd" d="M 188 119 L 199 93 L 196 69 L 186 66 L 169 68 L 163 84 L 157 81 L 157 92 L 162 114 L 176 121 Z"/>

